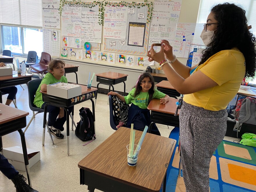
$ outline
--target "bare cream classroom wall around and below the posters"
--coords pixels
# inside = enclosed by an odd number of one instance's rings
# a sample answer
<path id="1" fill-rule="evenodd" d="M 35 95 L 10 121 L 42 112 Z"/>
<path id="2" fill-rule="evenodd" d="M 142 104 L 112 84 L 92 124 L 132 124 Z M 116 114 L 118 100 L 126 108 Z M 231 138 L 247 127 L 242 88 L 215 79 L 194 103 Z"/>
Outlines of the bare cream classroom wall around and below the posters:
<path id="1" fill-rule="evenodd" d="M 128 2 L 132 2 L 129 1 Z M 136 2 L 144 2 L 144 0 L 141 1 L 136 1 Z M 154 1 L 152 1 L 154 2 Z M 199 5 L 200 5 L 200 0 L 182 0 L 182 6 L 181 6 L 181 11 L 180 11 L 180 16 L 179 16 L 179 22 L 190 22 L 190 23 L 196 23 L 197 21 L 197 16 L 198 16 L 198 10 L 199 10 Z M 104 52 L 103 50 L 103 31 L 102 31 L 102 43 L 101 43 L 101 52 Z M 38 56 L 40 57 L 41 53 L 38 53 Z M 22 57 L 15 57 L 19 58 L 20 61 L 24 60 Z M 179 61 L 181 61 L 183 64 L 186 65 L 187 58 L 178 58 Z M 113 71 L 113 72 L 119 72 L 119 73 L 124 73 L 128 74 L 129 77 L 127 78 L 126 81 L 126 92 L 129 92 L 131 88 L 134 86 L 136 83 L 138 76 L 146 70 L 145 67 L 141 66 L 135 66 L 134 67 L 127 67 L 124 64 L 120 63 L 115 63 L 115 64 L 109 64 L 104 61 L 98 61 L 97 63 L 88 63 L 85 59 L 83 61 L 81 60 L 74 60 L 74 57 L 69 58 L 65 60 L 65 63 L 69 63 L 71 65 L 79 65 L 79 70 L 77 72 L 78 74 L 78 83 L 81 84 L 86 84 L 86 80 L 88 80 L 88 74 L 89 72 L 95 72 L 97 73 L 102 73 L 102 72 L 107 72 L 107 71 Z M 122 67 L 122 68 L 121 68 Z M 154 68 L 154 66 L 151 66 Z M 75 74 L 67 74 L 66 76 L 68 78 L 68 81 L 70 82 L 75 82 Z M 92 86 L 97 86 L 96 82 L 96 77 L 93 80 Z M 121 91 L 123 92 L 124 87 L 123 83 L 115 85 L 115 90 L 116 91 Z M 100 88 L 106 88 L 108 89 L 108 86 L 105 85 L 100 85 Z"/>

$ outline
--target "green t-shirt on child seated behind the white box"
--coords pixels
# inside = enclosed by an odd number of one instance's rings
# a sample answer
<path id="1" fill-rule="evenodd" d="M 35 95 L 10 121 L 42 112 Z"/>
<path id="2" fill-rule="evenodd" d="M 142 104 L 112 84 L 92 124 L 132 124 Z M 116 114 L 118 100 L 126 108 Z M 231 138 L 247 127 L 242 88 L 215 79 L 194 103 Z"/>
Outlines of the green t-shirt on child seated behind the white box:
<path id="1" fill-rule="evenodd" d="M 51 73 L 47 73 L 45 75 L 45 77 L 42 79 L 42 82 L 40 83 L 38 89 L 35 92 L 35 99 L 34 99 L 35 106 L 37 106 L 38 108 L 41 108 L 42 104 L 44 103 L 42 93 L 40 93 L 41 85 L 42 84 L 50 85 L 50 84 L 58 83 L 58 82 L 67 83 L 67 78 L 65 76 L 62 76 L 61 79 L 58 80 Z"/>

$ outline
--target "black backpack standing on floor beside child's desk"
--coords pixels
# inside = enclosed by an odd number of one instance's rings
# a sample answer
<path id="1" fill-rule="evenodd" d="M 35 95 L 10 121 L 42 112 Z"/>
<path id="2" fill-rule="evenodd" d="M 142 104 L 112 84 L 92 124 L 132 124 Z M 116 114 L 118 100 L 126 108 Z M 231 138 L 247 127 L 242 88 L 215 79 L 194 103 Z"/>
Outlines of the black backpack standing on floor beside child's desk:
<path id="1" fill-rule="evenodd" d="M 79 112 L 80 121 L 77 123 L 75 130 L 76 136 L 82 141 L 95 139 L 93 113 L 86 107 L 79 109 Z"/>

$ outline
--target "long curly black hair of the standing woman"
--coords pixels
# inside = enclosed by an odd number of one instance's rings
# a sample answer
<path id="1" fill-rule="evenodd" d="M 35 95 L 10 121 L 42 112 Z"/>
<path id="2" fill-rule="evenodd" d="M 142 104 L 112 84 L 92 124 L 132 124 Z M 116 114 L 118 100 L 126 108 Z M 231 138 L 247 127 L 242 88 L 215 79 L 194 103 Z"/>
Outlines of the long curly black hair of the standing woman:
<path id="1" fill-rule="evenodd" d="M 237 48 L 242 52 L 246 62 L 245 77 L 254 77 L 256 69 L 255 36 L 247 26 L 245 10 L 235 4 L 223 3 L 211 9 L 217 20 L 217 30 L 211 43 L 202 52 L 199 65 L 212 55 L 222 50 Z"/>

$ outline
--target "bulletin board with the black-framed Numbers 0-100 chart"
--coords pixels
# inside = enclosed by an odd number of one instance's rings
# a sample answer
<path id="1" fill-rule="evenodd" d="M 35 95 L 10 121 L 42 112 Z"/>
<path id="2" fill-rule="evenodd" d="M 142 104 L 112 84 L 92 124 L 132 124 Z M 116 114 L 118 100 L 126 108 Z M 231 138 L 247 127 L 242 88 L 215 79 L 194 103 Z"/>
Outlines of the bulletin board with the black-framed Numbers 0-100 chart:
<path id="1" fill-rule="evenodd" d="M 149 32 L 149 20 L 151 6 L 148 7 L 146 3 L 131 2 L 125 3 L 124 9 L 127 9 L 127 23 L 125 36 L 121 34 L 123 31 L 111 31 L 111 25 L 115 25 L 114 22 L 117 20 L 118 14 L 115 10 L 111 9 L 111 6 L 121 6 L 114 4 L 114 2 L 107 2 L 105 6 L 105 17 L 104 17 L 104 51 L 135 54 L 135 55 L 146 55 L 147 44 L 148 44 L 148 32 Z M 109 7 L 109 9 L 108 9 Z M 122 16 L 122 15 L 120 15 Z M 108 19 L 106 22 L 106 18 Z M 126 19 L 126 18 L 125 18 Z M 120 20 L 122 22 L 122 20 Z M 113 38 L 109 38 L 109 37 Z M 105 38 L 107 36 L 107 38 Z"/>

